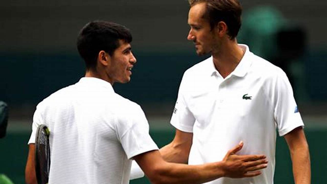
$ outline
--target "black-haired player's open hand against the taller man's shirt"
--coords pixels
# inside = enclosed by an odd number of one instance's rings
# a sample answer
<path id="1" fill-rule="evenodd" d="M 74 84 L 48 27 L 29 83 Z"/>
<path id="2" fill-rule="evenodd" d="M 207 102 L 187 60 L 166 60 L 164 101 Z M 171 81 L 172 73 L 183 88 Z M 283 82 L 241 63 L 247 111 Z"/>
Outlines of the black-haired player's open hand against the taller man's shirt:
<path id="1" fill-rule="evenodd" d="M 242 147 L 243 142 L 241 141 L 225 155 L 223 159 L 225 163 L 225 177 L 241 178 L 258 176 L 261 174 L 258 170 L 267 167 L 268 160 L 264 155 L 235 155 Z"/>

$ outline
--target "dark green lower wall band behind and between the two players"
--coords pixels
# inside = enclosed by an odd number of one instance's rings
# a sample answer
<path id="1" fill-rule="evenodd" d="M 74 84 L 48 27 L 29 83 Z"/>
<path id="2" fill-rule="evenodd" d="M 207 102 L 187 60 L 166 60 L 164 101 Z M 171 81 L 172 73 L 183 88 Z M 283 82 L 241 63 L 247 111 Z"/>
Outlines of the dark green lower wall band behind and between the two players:
<path id="1" fill-rule="evenodd" d="M 310 148 L 312 184 L 322 184 L 327 180 L 327 131 L 324 128 L 306 128 L 305 133 Z M 16 184 L 24 183 L 24 170 L 27 158 L 27 131 L 10 131 L 5 139 L 0 140 L 0 173 L 9 176 Z M 174 137 L 171 129 L 151 129 L 150 134 L 159 147 L 169 143 Z M 135 179 L 131 184 L 149 183 L 144 178 Z M 276 143 L 276 170 L 274 183 L 294 183 L 291 160 L 287 144 L 283 137 L 277 138 Z"/>

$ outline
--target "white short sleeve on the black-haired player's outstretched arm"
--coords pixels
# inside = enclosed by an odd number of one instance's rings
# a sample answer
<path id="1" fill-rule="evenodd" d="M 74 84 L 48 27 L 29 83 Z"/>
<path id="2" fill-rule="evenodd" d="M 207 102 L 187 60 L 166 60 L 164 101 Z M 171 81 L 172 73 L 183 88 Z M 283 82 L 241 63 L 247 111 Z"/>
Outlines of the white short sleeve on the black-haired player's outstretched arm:
<path id="1" fill-rule="evenodd" d="M 130 105 L 126 113 L 118 114 L 116 125 L 118 139 L 128 159 L 151 150 L 158 146 L 149 135 L 149 124 L 139 105 Z"/>

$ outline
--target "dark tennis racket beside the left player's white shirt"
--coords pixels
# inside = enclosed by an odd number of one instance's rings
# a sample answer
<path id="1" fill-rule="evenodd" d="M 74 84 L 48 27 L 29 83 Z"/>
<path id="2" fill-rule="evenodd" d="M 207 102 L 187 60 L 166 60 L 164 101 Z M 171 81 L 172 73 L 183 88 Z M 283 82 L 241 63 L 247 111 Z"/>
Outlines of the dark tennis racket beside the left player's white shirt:
<path id="1" fill-rule="evenodd" d="M 35 174 L 38 184 L 47 184 L 50 170 L 50 131 L 47 126 L 40 125 L 35 138 Z"/>

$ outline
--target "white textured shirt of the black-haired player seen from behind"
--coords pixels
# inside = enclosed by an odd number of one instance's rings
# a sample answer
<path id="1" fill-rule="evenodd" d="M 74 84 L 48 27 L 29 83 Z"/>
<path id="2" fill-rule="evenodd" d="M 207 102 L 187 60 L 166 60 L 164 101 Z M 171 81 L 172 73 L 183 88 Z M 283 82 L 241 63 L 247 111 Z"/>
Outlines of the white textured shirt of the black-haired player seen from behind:
<path id="1" fill-rule="evenodd" d="M 29 144 L 40 124 L 50 129 L 49 184 L 126 184 L 131 158 L 158 149 L 141 107 L 99 78 L 83 77 L 39 103 Z"/>

